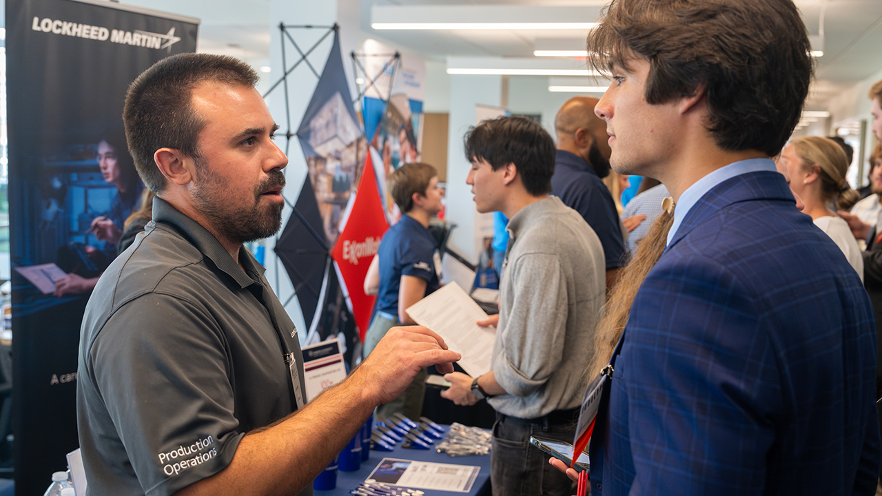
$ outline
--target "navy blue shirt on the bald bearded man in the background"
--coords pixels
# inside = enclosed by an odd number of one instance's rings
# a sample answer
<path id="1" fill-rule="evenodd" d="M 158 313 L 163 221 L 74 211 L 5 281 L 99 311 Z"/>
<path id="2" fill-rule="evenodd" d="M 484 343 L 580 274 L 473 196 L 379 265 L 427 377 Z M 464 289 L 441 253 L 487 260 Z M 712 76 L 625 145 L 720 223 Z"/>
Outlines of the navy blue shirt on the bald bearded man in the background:
<path id="1" fill-rule="evenodd" d="M 579 155 L 557 150 L 551 194 L 579 212 L 594 229 L 603 245 L 607 269 L 624 266 L 624 239 L 618 223 L 616 202 L 590 163 Z"/>

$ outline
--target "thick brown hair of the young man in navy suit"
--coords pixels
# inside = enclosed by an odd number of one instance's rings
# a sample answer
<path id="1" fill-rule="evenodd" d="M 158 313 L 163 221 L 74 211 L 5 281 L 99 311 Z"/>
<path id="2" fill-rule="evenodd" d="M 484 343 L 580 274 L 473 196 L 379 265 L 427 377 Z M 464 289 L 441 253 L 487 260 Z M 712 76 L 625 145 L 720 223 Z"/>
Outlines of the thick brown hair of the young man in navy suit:
<path id="1" fill-rule="evenodd" d="M 613 0 L 588 33 L 594 69 L 650 64 L 646 99 L 706 88 L 706 129 L 729 151 L 781 152 L 799 122 L 814 63 L 791 0 Z"/>

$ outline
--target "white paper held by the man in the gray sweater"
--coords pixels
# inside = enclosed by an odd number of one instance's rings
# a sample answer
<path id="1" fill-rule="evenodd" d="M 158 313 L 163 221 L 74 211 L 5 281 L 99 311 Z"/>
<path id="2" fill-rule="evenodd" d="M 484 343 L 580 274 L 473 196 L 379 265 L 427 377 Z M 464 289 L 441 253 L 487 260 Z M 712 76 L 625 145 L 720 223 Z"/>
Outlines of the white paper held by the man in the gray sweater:
<path id="1" fill-rule="evenodd" d="M 417 324 L 429 327 L 444 338 L 449 349 L 460 353 L 460 367 L 468 375 L 478 377 L 490 372 L 496 329 L 475 323 L 487 319 L 487 314 L 459 284 L 445 284 L 405 312 Z"/>

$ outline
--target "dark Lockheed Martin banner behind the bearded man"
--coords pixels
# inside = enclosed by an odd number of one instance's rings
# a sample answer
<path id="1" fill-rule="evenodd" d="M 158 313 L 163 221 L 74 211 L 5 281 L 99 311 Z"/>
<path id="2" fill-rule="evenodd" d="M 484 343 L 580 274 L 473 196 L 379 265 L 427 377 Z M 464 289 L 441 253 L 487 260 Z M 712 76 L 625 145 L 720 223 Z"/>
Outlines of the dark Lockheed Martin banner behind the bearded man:
<path id="1" fill-rule="evenodd" d="M 80 321 L 144 189 L 123 139 L 126 89 L 161 58 L 195 51 L 197 27 L 101 0 L 6 0 L 19 494 L 44 491 L 78 447 Z M 109 237 L 95 236 L 98 218 L 113 222 Z"/>

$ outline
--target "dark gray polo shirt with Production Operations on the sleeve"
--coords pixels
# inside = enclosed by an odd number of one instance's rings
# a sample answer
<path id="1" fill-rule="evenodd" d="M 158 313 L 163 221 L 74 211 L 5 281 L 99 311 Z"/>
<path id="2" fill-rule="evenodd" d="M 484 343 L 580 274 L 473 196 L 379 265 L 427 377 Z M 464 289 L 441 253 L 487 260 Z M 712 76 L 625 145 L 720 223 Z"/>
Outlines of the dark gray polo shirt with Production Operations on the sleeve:
<path id="1" fill-rule="evenodd" d="M 239 252 L 243 272 L 159 198 L 153 221 L 101 275 L 83 318 L 77 420 L 89 494 L 165 496 L 211 477 L 303 391 L 294 323 L 250 252 Z"/>

